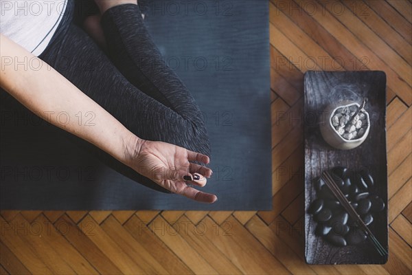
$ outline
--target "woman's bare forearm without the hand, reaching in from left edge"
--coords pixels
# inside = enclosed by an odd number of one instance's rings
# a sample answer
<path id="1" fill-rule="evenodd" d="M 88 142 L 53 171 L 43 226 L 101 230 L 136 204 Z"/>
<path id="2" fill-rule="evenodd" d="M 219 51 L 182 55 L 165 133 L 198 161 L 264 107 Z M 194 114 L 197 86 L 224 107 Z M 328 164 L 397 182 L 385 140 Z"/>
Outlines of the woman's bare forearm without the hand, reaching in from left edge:
<path id="1" fill-rule="evenodd" d="M 124 164 L 141 140 L 40 58 L 1 35 L 0 86 L 27 109 Z"/>

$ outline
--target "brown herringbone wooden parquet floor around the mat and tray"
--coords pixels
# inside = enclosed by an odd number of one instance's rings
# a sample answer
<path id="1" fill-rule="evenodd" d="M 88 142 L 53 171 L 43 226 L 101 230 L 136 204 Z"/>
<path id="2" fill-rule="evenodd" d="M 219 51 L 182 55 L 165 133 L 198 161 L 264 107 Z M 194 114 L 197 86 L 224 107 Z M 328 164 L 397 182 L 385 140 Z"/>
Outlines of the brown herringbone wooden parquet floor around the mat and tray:
<path id="1" fill-rule="evenodd" d="M 272 211 L 3 211 L 0 274 L 411 274 L 412 3 L 322 2 L 270 4 Z M 302 124 L 277 119 L 308 69 L 387 74 L 386 265 L 304 263 Z"/>

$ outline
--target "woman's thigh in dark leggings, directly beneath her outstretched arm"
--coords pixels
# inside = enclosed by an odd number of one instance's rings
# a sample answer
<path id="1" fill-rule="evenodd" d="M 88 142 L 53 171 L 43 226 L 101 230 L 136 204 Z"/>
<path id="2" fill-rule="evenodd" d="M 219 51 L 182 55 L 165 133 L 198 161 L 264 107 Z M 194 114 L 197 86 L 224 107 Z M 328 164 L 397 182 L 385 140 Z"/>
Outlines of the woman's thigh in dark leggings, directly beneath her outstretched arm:
<path id="1" fill-rule="evenodd" d="M 184 113 L 187 116 L 183 116 L 137 89 L 76 25 L 71 24 L 65 35 L 47 47 L 41 58 L 139 137 L 161 140 L 209 155 L 204 124 L 194 123 L 198 120 L 198 113 Z M 178 94 L 175 100 L 179 100 Z M 194 103 L 182 97 L 181 104 Z M 102 161 L 119 173 L 165 191 L 95 146 L 77 137 L 71 138 L 97 153 Z"/>

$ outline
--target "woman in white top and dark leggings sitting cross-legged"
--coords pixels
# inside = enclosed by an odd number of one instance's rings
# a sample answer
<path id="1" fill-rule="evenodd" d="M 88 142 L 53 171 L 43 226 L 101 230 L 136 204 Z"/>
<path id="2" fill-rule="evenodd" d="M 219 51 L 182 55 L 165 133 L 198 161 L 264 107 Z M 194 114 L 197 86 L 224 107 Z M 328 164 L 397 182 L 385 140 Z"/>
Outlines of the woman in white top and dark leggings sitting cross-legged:
<path id="1" fill-rule="evenodd" d="M 34 2 L 0 0 L 0 85 L 13 97 L 3 94 L 2 104 L 15 98 L 150 188 L 216 201 L 190 186 L 205 186 L 212 173 L 201 165 L 210 153 L 201 111 L 163 64 L 137 1 L 95 0 L 101 28 L 88 29 L 105 41 L 106 54 L 73 23 L 73 0 Z M 58 115 L 79 112 L 91 113 L 94 126 Z"/>

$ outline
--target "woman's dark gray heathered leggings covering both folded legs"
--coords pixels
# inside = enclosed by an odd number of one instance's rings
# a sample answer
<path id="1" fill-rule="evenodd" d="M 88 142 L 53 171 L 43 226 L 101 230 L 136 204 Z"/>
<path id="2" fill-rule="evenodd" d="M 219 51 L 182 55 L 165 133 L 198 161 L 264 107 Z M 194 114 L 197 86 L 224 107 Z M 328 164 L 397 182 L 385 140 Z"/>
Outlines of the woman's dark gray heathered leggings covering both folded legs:
<path id="1" fill-rule="evenodd" d="M 163 63 L 138 5 L 107 10 L 101 25 L 107 53 L 73 23 L 73 1 L 69 0 L 65 19 L 40 58 L 135 135 L 210 155 L 201 110 L 179 77 Z M 168 192 L 92 144 L 67 135 L 126 177 Z"/>

